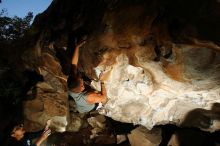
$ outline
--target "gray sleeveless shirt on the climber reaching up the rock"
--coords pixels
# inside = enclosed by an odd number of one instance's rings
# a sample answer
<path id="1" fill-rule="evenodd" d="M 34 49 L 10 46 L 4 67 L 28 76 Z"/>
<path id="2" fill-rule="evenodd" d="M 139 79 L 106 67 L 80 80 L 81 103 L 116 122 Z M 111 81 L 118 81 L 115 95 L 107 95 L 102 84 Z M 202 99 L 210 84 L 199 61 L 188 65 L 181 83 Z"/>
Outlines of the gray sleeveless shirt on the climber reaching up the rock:
<path id="1" fill-rule="evenodd" d="M 83 91 L 80 93 L 68 91 L 68 94 L 75 100 L 76 108 L 78 112 L 80 113 L 90 112 L 92 109 L 95 108 L 95 104 L 87 103 L 86 101 L 87 92 L 86 91 Z"/>

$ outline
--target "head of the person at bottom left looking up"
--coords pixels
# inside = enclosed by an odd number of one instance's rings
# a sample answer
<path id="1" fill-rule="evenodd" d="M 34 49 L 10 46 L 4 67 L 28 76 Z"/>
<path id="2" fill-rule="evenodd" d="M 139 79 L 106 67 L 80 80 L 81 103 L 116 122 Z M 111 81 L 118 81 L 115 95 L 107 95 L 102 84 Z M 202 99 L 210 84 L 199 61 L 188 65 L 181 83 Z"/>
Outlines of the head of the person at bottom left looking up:
<path id="1" fill-rule="evenodd" d="M 15 124 L 11 129 L 11 137 L 15 138 L 17 141 L 24 137 L 24 127 L 23 124 Z"/>

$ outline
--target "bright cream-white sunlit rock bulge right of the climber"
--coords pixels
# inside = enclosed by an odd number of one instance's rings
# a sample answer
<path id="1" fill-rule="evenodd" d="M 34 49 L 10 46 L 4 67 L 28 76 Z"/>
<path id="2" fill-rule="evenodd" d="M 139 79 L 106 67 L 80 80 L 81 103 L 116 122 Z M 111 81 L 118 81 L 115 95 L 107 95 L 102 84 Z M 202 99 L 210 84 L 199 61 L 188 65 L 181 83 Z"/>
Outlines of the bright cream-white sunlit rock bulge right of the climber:
<path id="1" fill-rule="evenodd" d="M 184 48 L 175 49 L 185 51 Z M 194 53 L 195 48 L 192 50 Z M 201 53 L 204 49 L 199 50 Z M 213 65 L 208 67 L 205 66 L 208 56 L 190 58 L 193 56 L 190 53 L 163 64 L 147 60 L 143 50 L 139 50 L 135 53 L 136 66 L 129 64 L 126 54 L 118 55 L 116 63 L 108 66 L 111 69 L 104 71 L 109 98 L 104 114 L 148 129 L 168 123 L 209 131 L 219 129 L 219 110 L 214 110 L 220 103 L 219 74 L 216 72 L 219 54 L 216 53 Z M 207 58 L 203 62 L 200 57 Z M 198 62 L 189 63 L 193 59 Z M 177 73 L 167 70 L 171 65 Z M 181 76 L 175 77 L 178 73 Z"/>

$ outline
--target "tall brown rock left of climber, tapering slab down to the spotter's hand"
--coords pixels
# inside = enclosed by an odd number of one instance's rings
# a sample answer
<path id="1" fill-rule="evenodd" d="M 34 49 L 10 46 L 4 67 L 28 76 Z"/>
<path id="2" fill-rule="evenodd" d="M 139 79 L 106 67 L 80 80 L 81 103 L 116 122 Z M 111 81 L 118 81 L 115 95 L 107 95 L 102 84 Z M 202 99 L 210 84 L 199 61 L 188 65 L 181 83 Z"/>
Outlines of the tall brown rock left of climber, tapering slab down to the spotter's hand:
<path id="1" fill-rule="evenodd" d="M 27 130 L 35 131 L 43 128 L 51 119 L 51 128 L 63 132 L 68 124 L 68 98 L 66 80 L 59 63 L 48 53 L 42 55 L 42 65 L 38 68 L 44 81 L 37 83 L 29 92 L 31 100 L 24 102 L 24 116 Z"/>

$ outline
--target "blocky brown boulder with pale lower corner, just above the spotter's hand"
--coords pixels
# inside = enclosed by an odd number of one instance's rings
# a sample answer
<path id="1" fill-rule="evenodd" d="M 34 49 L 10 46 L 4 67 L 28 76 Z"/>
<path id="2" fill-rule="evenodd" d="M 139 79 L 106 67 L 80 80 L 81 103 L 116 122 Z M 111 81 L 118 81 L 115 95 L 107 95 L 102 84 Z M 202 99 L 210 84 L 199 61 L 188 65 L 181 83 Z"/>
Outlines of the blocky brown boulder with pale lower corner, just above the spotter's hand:
<path id="1" fill-rule="evenodd" d="M 66 95 L 49 91 L 52 88 L 45 88 L 46 86 L 49 87 L 45 83 L 38 84 L 37 93 L 33 93 L 37 97 L 24 103 L 26 124 L 33 125 L 29 127 L 29 130 L 36 130 L 42 128 L 46 121 L 51 119 L 51 128 L 63 132 L 67 126 Z"/>

